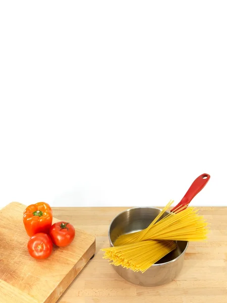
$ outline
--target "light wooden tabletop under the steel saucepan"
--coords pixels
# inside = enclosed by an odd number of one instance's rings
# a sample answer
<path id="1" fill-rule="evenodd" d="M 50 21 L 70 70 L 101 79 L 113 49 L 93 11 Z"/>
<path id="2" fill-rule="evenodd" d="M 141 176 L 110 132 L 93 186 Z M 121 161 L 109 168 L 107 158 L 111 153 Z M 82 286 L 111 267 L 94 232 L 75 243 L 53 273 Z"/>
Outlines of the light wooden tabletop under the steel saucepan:
<path id="1" fill-rule="evenodd" d="M 203 207 L 211 223 L 209 241 L 191 242 L 178 278 L 158 287 L 142 287 L 120 277 L 102 259 L 108 247 L 110 221 L 128 208 L 53 208 L 55 218 L 73 223 L 95 235 L 96 254 L 58 300 L 58 303 L 226 303 L 227 207 Z"/>

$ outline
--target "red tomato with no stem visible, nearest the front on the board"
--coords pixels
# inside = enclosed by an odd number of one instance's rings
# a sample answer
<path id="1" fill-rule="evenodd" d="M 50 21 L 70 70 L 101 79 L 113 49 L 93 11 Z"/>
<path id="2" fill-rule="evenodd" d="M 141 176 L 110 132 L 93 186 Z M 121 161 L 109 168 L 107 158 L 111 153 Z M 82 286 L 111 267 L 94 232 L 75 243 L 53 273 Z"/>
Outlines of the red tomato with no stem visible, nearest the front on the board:
<path id="1" fill-rule="evenodd" d="M 39 232 L 28 240 L 28 252 L 35 259 L 46 259 L 51 255 L 53 243 L 49 235 Z"/>

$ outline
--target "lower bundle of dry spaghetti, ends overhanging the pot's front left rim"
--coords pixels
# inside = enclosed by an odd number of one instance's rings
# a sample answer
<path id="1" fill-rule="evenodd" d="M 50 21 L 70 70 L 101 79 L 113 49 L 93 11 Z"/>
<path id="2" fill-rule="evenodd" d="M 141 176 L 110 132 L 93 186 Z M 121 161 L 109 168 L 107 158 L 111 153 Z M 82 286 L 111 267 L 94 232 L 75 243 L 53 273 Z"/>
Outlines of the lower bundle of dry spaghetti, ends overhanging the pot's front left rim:
<path id="1" fill-rule="evenodd" d="M 144 273 L 151 265 L 176 248 L 174 241 L 146 240 L 101 250 L 105 251 L 103 259 L 109 259 L 110 264 Z"/>

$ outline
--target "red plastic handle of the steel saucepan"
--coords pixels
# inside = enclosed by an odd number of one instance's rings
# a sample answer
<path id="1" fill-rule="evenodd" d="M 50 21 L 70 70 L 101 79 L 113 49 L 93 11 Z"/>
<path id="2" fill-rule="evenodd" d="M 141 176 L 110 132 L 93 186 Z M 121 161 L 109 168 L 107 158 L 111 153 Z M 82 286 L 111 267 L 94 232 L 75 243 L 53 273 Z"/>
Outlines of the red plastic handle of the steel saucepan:
<path id="1" fill-rule="evenodd" d="M 171 210 L 171 212 L 174 212 L 180 206 L 186 206 L 187 204 L 189 204 L 191 200 L 197 195 L 197 193 L 199 193 L 203 189 L 209 179 L 210 175 L 208 174 L 202 174 L 198 178 L 196 178 L 192 185 L 189 187 L 182 200 L 178 203 L 177 206 L 175 206 Z"/>

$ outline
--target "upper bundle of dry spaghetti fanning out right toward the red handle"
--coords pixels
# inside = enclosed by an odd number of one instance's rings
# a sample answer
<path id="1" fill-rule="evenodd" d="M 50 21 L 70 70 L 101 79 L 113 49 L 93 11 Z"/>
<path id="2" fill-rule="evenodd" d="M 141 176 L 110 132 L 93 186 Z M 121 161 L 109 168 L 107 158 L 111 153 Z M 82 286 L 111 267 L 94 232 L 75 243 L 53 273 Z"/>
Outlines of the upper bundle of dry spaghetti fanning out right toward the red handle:
<path id="1" fill-rule="evenodd" d="M 172 203 L 173 201 L 170 201 L 147 228 L 119 236 L 114 245 L 136 243 L 143 240 L 206 240 L 208 223 L 203 216 L 198 215 L 198 210 L 193 207 L 181 206 L 174 213 L 169 213 L 160 219 Z"/>

